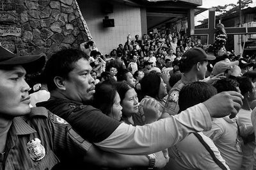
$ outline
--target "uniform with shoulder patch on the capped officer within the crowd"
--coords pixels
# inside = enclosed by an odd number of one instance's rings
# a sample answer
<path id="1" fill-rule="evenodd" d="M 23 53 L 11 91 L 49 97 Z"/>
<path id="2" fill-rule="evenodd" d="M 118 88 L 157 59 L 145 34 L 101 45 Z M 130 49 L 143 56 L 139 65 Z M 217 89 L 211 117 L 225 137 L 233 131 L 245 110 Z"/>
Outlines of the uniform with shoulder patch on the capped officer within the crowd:
<path id="1" fill-rule="evenodd" d="M 169 91 L 168 95 L 164 97 L 163 100 L 166 101 L 166 104 L 164 105 L 164 111 L 168 112 L 170 115 L 175 115 L 179 112 L 179 93 L 180 89 L 183 88 L 183 86 L 189 84 L 191 81 L 189 81 L 184 75 L 182 75 L 181 79 L 174 84 L 173 88 Z"/>

